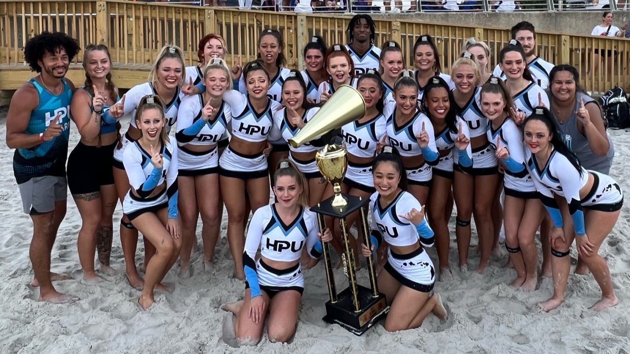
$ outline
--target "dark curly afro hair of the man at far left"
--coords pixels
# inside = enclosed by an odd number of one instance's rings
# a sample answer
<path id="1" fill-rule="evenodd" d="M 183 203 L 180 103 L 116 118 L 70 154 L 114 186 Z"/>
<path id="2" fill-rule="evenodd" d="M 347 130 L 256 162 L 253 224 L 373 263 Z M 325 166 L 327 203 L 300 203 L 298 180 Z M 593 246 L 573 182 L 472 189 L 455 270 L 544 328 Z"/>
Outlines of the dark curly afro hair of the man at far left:
<path id="1" fill-rule="evenodd" d="M 37 62 L 42 60 L 46 52 L 55 53 L 59 49 L 66 50 L 69 60 L 72 60 L 81 50 L 79 43 L 74 38 L 68 37 L 66 33 L 44 31 L 26 42 L 24 60 L 33 71 L 42 72 L 42 67 Z"/>

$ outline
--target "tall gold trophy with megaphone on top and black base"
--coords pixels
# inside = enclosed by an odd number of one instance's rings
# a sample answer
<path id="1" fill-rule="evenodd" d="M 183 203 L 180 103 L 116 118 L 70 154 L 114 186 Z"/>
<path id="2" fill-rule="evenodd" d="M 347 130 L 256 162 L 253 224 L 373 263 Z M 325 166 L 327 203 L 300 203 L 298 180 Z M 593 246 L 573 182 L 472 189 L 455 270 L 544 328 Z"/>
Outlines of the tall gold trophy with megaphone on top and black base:
<path id="1" fill-rule="evenodd" d="M 324 140 L 329 142 L 331 137 L 334 136 L 334 133 L 331 132 L 346 123 L 363 117 L 364 114 L 365 102 L 361 94 L 352 86 L 341 85 L 318 113 L 289 142 L 292 146 L 298 147 L 320 136 L 323 136 Z M 379 293 L 377 288 L 373 257 L 370 256 L 367 263 L 370 288 L 358 285 L 355 259 L 348 242 L 349 237 L 353 236 L 348 234 L 345 218 L 360 210 L 363 241 L 368 248 L 372 247 L 367 224 L 367 208 L 370 201 L 341 193 L 341 181 L 343 181 L 348 164 L 348 152 L 343 144 L 338 145 L 330 142 L 318 151 L 315 159 L 319 172 L 333 185 L 335 195 L 311 207 L 311 211 L 318 215 L 320 232 L 324 232 L 326 229 L 324 215 L 340 220 L 341 232 L 343 233 L 343 254 L 340 254 L 340 257 L 343 260 L 343 272 L 347 275 L 350 283 L 348 288 L 337 294 L 335 275 L 330 259 L 330 248 L 328 243 L 323 243 L 322 249 L 329 295 L 329 300 L 326 302 L 326 316 L 323 319 L 328 323 L 340 324 L 348 331 L 361 335 L 389 311 L 385 295 Z"/>

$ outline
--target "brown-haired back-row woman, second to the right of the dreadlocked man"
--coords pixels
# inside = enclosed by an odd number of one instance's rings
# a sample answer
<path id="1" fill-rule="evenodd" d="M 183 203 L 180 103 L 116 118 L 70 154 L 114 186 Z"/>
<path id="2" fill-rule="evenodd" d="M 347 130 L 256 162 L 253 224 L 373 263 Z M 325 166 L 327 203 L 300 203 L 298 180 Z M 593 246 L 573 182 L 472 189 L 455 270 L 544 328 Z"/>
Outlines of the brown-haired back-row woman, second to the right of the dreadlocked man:
<path id="1" fill-rule="evenodd" d="M 418 100 L 422 100 L 422 94 L 425 86 L 429 83 L 433 76 L 440 76 L 449 87 L 454 88 L 453 82 L 448 74 L 442 72 L 442 64 L 440 64 L 440 55 L 437 52 L 435 41 L 430 35 L 421 35 L 413 45 L 413 78 L 418 83 Z"/>

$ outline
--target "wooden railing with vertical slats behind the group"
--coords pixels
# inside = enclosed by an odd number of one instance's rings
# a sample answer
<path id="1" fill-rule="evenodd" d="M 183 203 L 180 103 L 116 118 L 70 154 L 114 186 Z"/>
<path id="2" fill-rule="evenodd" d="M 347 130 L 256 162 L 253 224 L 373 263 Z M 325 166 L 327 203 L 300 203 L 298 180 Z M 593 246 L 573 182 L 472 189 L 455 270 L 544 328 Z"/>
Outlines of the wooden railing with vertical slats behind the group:
<path id="1" fill-rule="evenodd" d="M 241 55 L 243 62 L 254 59 L 257 39 L 265 28 L 282 32 L 287 66 L 304 67 L 302 48 L 314 34 L 326 42 L 347 43 L 345 28 L 350 16 L 311 15 L 203 8 L 164 3 L 129 1 L 3 1 L 0 3 L 0 70 L 24 69 L 22 49 L 26 41 L 42 31 L 64 31 L 84 48 L 89 43 L 105 43 L 112 52 L 115 69 L 147 70 L 166 43 L 179 45 L 187 65 L 197 62 L 197 43 L 207 33 L 219 33 L 227 41 L 227 61 Z M 419 21 L 375 20 L 376 43 L 392 39 L 401 43 L 406 63 L 412 62 L 416 38 L 428 33 L 435 37 L 443 71 L 450 72 L 465 38 L 484 40 L 491 48 L 490 70 L 499 50 L 510 40 L 507 29 L 421 23 Z M 556 64 L 572 64 L 581 72 L 581 84 L 602 92 L 615 84 L 630 86 L 630 40 L 562 33 L 537 33 L 537 53 Z M 593 72 L 593 49 L 617 51 L 612 68 L 602 63 Z M 80 62 L 77 55 L 75 62 Z M 135 76 L 135 81 L 141 79 Z M 121 87 L 133 84 L 118 83 Z M 0 89 L 15 86 L 0 81 Z"/>

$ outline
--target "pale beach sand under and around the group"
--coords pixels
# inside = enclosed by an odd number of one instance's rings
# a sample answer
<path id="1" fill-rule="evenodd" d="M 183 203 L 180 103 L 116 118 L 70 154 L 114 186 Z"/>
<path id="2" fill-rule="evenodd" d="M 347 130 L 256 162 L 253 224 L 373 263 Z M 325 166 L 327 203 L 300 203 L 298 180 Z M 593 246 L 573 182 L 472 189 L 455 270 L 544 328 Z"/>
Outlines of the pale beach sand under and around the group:
<path id="1" fill-rule="evenodd" d="M 6 108 L 0 111 L 0 125 L 4 137 Z M 617 151 L 612 176 L 628 193 L 630 182 L 624 171 L 630 171 L 630 136 L 623 131 L 612 131 L 610 136 Z M 71 149 L 78 138 L 72 125 Z M 114 215 L 112 251 L 112 266 L 118 275 L 102 275 L 106 281 L 86 285 L 80 281 L 76 251 L 81 218 L 69 196 L 66 219 L 52 250 L 52 270 L 74 277 L 55 282 L 55 287 L 80 300 L 62 305 L 40 303 L 36 301 L 38 290 L 28 286 L 33 277 L 28 258 L 32 229 L 28 215 L 21 212 L 12 158 L 13 151 L 1 144 L 0 215 L 4 222 L 0 232 L 0 353 L 630 353 L 630 251 L 623 241 L 630 232 L 627 204 L 600 250 L 610 265 L 620 301 L 607 311 L 588 310 L 600 297 L 593 277 L 571 275 L 566 302 L 549 314 L 542 312 L 536 304 L 551 296 L 551 280 L 542 280 L 535 292 L 509 287 L 507 283 L 515 273 L 503 268 L 505 250 L 503 258 L 493 259 L 485 275 L 462 274 L 456 270 L 452 234 L 454 280 L 435 287 L 450 312 L 445 323 L 430 316 L 421 328 L 399 333 L 387 333 L 380 323 L 360 337 L 326 324 L 321 320 L 328 298 L 321 262 L 305 273 L 306 288 L 292 343 L 270 343 L 263 336 L 258 346 L 231 348 L 221 340 L 225 312 L 219 305 L 241 299 L 244 285 L 230 278 L 233 266 L 224 238 L 226 215 L 214 271 L 203 271 L 200 254 L 193 256 L 192 278 L 178 278 L 176 265 L 166 277 L 175 290 L 156 292 L 157 304 L 141 312 L 135 304 L 139 292 L 123 276 L 117 229 L 120 205 Z M 450 229 L 454 230 L 454 225 Z M 430 254 L 437 261 L 435 250 Z M 571 256 L 575 258 L 575 250 Z M 139 251 L 137 263 L 141 261 Z M 471 257 L 471 269 L 478 261 Z M 336 271 L 336 280 L 337 288 L 347 284 L 340 270 Z M 369 284 L 365 267 L 359 282 Z"/>

